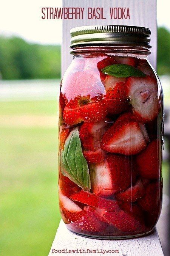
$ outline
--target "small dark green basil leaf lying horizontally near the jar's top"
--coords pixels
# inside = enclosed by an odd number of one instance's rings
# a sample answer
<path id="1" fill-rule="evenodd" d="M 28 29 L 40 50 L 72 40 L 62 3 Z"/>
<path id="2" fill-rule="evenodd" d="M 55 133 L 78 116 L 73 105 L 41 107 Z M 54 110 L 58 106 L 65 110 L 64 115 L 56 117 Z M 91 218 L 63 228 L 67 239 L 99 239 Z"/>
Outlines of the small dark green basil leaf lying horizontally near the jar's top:
<path id="1" fill-rule="evenodd" d="M 101 71 L 104 74 L 113 75 L 114 77 L 145 77 L 146 75 L 137 68 L 127 64 L 113 64 L 107 66 Z"/>

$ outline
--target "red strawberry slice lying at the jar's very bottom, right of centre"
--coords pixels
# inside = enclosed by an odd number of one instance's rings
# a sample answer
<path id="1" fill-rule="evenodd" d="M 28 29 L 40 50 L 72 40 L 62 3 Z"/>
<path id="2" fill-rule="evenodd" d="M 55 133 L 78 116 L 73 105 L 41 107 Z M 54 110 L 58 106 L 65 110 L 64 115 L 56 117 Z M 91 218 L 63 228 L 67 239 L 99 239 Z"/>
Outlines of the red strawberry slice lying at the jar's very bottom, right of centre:
<path id="1" fill-rule="evenodd" d="M 108 212 L 103 209 L 96 209 L 97 214 L 102 216 L 105 221 L 114 227 L 118 228 L 123 232 L 133 232 L 133 231 L 142 231 L 145 229 L 144 225 L 142 225 L 136 218 L 127 214 L 123 210 L 118 213 Z"/>

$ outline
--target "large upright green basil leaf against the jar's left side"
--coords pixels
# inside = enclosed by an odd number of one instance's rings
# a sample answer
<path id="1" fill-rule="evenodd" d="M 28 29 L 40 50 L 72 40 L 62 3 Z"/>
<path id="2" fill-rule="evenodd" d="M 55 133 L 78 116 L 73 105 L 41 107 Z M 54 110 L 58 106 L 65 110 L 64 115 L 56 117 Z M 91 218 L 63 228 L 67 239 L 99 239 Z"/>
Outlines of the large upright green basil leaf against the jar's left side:
<path id="1" fill-rule="evenodd" d="M 78 127 L 66 138 L 62 151 L 62 165 L 64 173 L 71 181 L 84 190 L 90 191 L 90 174 L 87 161 L 83 156 Z"/>

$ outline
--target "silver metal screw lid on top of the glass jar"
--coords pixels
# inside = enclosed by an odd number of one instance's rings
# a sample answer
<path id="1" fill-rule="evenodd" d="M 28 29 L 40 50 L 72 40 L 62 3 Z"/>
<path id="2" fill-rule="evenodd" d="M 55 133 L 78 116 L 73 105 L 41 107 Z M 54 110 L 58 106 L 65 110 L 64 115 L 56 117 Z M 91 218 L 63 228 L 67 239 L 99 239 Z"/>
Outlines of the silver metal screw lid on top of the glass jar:
<path id="1" fill-rule="evenodd" d="M 151 31 L 145 27 L 125 25 L 96 25 L 76 27 L 70 30 L 71 48 L 78 46 L 150 46 Z"/>

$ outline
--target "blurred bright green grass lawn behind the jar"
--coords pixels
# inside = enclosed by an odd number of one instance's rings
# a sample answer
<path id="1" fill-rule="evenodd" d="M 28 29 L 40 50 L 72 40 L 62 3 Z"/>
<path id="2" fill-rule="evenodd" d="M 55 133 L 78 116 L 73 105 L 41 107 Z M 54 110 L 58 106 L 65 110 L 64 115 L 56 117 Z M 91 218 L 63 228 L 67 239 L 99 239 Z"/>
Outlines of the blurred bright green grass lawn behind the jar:
<path id="1" fill-rule="evenodd" d="M 48 255 L 60 221 L 57 102 L 0 102 L 0 123 L 0 255 Z"/>

